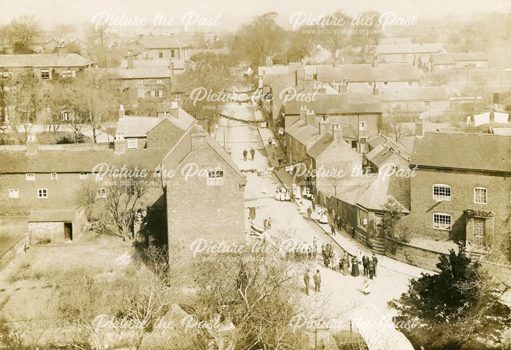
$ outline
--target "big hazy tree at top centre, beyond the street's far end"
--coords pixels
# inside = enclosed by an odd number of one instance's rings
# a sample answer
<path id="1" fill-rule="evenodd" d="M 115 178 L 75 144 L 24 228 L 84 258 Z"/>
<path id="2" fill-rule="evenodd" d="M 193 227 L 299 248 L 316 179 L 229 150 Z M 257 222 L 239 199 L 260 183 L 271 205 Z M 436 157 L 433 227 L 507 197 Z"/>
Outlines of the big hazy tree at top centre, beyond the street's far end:
<path id="1" fill-rule="evenodd" d="M 238 29 L 233 50 L 247 59 L 252 67 L 263 65 L 265 57 L 273 56 L 282 49 L 286 32 L 277 25 L 277 16 L 276 12 L 267 12 L 255 16 Z"/>

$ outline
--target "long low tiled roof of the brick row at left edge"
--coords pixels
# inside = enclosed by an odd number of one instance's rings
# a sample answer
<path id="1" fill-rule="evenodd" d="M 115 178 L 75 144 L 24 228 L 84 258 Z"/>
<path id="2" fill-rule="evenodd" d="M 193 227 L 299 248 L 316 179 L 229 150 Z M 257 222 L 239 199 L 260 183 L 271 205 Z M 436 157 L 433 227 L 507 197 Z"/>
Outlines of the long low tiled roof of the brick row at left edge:
<path id="1" fill-rule="evenodd" d="M 168 149 L 128 149 L 123 154 L 115 154 L 113 148 L 90 150 L 83 146 L 55 146 L 27 155 L 26 151 L 4 149 L 0 150 L 0 173 L 91 172 L 100 163 L 106 163 L 110 167 L 137 165 L 153 172 L 167 152 Z"/>

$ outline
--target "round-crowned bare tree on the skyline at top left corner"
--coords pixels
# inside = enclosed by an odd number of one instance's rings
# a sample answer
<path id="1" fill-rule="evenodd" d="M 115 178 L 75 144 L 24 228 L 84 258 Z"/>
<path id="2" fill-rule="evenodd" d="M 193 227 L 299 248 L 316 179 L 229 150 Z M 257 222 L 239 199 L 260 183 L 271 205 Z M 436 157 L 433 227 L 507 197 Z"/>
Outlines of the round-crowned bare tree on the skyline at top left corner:
<path id="1" fill-rule="evenodd" d="M 15 45 L 14 53 L 25 53 L 26 50 L 32 51 L 30 46 L 41 32 L 39 21 L 33 15 L 25 14 L 13 19 L 9 24 L 9 34 Z"/>

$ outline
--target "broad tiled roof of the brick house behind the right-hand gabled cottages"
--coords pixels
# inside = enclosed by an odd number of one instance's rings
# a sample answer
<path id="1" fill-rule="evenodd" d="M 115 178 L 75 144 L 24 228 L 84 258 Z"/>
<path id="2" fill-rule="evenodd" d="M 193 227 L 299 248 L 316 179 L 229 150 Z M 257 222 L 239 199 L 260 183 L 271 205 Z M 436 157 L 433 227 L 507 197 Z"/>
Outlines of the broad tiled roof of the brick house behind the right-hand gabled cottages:
<path id="1" fill-rule="evenodd" d="M 316 114 L 381 113 L 380 101 L 373 94 L 316 95 L 315 101 L 301 102 L 293 99 L 284 107 L 286 114 L 299 114 L 302 105 Z"/>

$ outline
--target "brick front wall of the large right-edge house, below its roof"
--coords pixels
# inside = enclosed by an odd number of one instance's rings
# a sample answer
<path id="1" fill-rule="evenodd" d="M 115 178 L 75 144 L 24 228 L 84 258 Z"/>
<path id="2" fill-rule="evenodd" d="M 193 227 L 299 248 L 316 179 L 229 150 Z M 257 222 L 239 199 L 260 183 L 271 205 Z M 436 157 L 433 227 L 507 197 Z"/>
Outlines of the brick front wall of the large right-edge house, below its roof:
<path id="1" fill-rule="evenodd" d="M 446 151 L 448 147 L 446 145 Z M 421 232 L 423 237 L 448 240 L 452 233 L 454 239 L 464 240 L 467 220 L 463 213 L 465 209 L 493 212 L 496 235 L 502 235 L 511 225 L 509 174 L 497 176 L 476 171 L 417 169 L 416 176 L 410 182 L 411 222 L 414 230 Z M 437 203 L 433 199 L 433 184 L 450 185 L 451 201 Z M 487 189 L 487 204 L 474 203 L 475 187 Z M 451 215 L 452 231 L 433 229 L 433 213 Z"/>

